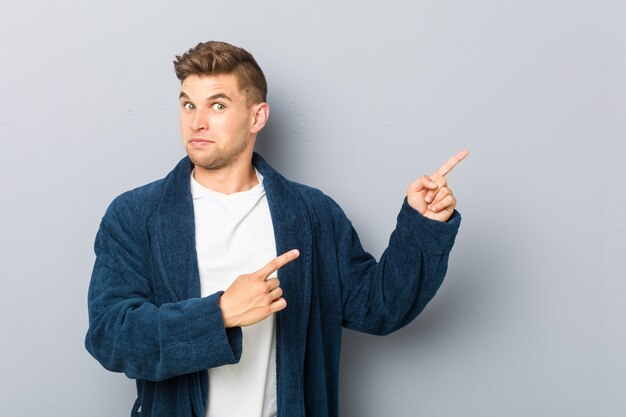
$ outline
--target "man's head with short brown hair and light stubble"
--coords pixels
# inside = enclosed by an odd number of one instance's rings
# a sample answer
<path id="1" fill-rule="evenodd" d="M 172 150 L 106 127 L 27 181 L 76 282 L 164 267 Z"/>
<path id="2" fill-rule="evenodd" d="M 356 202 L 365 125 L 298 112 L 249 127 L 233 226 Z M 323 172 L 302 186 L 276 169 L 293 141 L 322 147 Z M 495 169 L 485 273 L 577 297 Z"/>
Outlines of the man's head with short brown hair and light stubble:
<path id="1" fill-rule="evenodd" d="M 179 123 L 196 172 L 251 166 L 257 133 L 269 117 L 261 68 L 241 48 L 201 43 L 174 62 Z"/>

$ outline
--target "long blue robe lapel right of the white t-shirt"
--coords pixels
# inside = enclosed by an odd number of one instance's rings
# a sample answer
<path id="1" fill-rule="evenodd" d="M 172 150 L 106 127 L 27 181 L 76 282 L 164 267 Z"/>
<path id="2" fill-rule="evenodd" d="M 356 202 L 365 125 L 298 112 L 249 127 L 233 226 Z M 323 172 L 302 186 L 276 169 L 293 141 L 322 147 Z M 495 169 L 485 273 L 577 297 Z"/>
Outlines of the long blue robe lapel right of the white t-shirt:
<path id="1" fill-rule="evenodd" d="M 258 154 L 253 164 L 263 175 L 263 186 L 272 215 L 277 254 L 298 249 L 300 257 L 278 271 L 287 308 L 278 313 L 277 371 L 278 409 L 304 414 L 302 375 L 311 301 L 312 228 L 304 201 L 295 187 L 274 171 Z M 279 411 L 279 415 L 281 415 Z M 293 414 L 291 414 L 293 415 Z"/>

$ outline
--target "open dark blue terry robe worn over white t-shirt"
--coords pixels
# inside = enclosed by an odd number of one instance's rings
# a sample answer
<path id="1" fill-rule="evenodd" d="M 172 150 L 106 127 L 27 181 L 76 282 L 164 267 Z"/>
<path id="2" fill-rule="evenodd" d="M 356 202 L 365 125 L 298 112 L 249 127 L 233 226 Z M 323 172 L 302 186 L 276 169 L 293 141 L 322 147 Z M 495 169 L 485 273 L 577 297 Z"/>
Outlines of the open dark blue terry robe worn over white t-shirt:
<path id="1" fill-rule="evenodd" d="M 286 180 L 258 154 L 253 164 L 278 254 L 300 250 L 278 271 L 287 301 L 277 313 L 278 416 L 337 416 L 342 327 L 384 335 L 413 320 L 443 280 L 461 218 L 427 219 L 405 199 L 376 262 L 332 199 Z M 241 357 L 241 329 L 224 328 L 221 293 L 200 297 L 192 168 L 184 158 L 165 178 L 117 197 L 96 236 L 85 346 L 137 381 L 133 416 L 203 417 L 206 370 Z"/>

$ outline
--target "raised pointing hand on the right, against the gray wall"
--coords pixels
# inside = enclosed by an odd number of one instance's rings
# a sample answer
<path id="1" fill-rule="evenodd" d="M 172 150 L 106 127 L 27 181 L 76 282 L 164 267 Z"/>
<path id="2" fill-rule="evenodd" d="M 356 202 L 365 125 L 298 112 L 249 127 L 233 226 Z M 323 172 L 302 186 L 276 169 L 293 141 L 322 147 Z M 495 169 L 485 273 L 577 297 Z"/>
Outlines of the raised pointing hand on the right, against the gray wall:
<path id="1" fill-rule="evenodd" d="M 446 175 L 467 155 L 469 152 L 463 150 L 448 159 L 432 175 L 422 175 L 413 181 L 407 189 L 407 201 L 411 207 L 429 219 L 448 221 L 454 213 L 456 198 L 448 188 Z"/>

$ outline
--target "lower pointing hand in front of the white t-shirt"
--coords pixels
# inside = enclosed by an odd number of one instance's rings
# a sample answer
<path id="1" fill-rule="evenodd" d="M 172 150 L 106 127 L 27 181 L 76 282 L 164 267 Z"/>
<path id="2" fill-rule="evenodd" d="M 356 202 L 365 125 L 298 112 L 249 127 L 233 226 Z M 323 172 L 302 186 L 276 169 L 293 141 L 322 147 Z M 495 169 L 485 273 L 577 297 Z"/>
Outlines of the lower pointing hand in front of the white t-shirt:
<path id="1" fill-rule="evenodd" d="M 300 256 L 292 249 L 252 274 L 240 275 L 220 297 L 224 326 L 250 326 L 287 307 L 278 278 L 270 275 Z"/>

